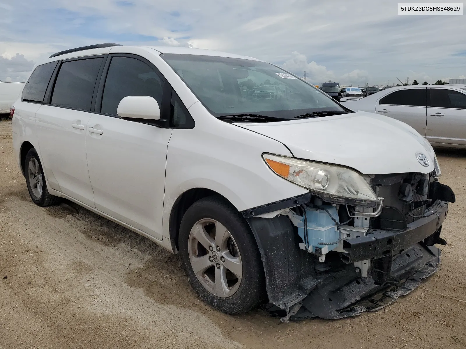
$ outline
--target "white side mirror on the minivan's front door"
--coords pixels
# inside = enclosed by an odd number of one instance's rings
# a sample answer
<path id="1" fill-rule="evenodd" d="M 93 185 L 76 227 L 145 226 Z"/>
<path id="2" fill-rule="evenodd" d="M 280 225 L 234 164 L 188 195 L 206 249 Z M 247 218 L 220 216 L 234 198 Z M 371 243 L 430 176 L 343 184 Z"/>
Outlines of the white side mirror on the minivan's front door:
<path id="1" fill-rule="evenodd" d="M 160 108 L 153 97 L 127 96 L 118 104 L 117 114 L 121 118 L 159 120 Z"/>

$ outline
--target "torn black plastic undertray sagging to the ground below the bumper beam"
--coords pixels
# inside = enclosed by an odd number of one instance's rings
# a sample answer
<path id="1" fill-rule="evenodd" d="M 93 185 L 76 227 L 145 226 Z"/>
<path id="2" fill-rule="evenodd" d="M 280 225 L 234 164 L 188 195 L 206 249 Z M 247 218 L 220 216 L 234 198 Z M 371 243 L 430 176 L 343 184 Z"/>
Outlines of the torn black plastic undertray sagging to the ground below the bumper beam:
<path id="1" fill-rule="evenodd" d="M 362 278 L 360 271 L 351 265 L 341 271 L 316 275 L 320 283 L 302 300 L 302 307 L 291 319 L 339 319 L 384 308 L 418 287 L 437 271 L 439 263 L 439 248 L 420 242 L 393 258 L 391 276 L 394 281 L 389 286 L 379 286 L 372 278 Z"/>

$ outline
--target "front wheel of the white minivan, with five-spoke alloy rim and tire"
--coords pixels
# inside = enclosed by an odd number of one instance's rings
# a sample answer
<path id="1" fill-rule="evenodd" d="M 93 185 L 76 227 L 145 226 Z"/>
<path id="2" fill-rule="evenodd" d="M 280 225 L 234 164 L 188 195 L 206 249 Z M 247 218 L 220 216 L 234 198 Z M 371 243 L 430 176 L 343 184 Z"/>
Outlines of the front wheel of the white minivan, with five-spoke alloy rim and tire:
<path id="1" fill-rule="evenodd" d="M 259 249 L 247 221 L 226 200 L 209 196 L 193 203 L 181 221 L 178 245 L 192 288 L 211 307 L 242 314 L 263 299 Z"/>

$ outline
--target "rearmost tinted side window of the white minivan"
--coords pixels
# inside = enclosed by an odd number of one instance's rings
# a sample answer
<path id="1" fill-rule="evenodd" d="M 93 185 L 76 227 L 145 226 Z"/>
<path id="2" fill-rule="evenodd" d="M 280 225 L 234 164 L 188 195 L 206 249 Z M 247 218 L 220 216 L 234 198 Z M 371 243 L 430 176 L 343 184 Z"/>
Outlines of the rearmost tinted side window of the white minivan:
<path id="1" fill-rule="evenodd" d="M 24 86 L 21 99 L 24 101 L 43 102 L 48 82 L 52 77 L 58 61 L 37 66 Z"/>

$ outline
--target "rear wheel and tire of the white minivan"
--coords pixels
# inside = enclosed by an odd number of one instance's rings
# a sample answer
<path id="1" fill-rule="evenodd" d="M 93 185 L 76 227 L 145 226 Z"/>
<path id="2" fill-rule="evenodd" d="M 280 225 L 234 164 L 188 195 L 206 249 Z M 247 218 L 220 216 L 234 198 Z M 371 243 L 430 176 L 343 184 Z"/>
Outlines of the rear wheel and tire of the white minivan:
<path id="1" fill-rule="evenodd" d="M 60 202 L 60 198 L 51 195 L 48 192 L 45 177 L 43 175 L 41 161 L 39 155 L 34 148 L 29 149 L 24 161 L 24 176 L 26 177 L 27 190 L 32 201 L 41 207 L 55 205 Z"/>

